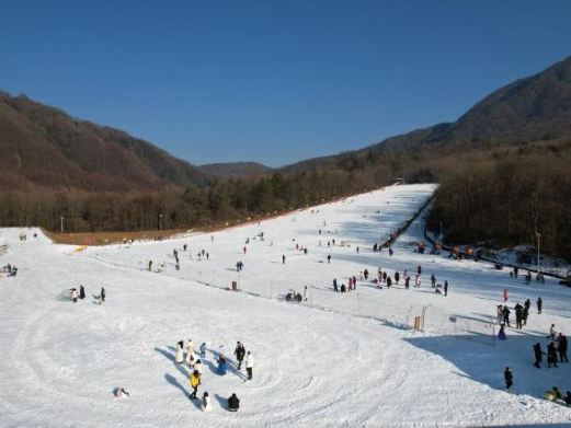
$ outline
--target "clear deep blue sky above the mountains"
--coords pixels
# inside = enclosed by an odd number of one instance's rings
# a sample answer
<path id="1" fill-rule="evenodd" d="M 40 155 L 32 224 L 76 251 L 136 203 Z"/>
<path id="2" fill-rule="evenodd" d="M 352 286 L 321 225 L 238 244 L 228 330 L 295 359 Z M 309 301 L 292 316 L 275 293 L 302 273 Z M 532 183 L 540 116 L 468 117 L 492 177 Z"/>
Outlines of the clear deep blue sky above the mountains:
<path id="1" fill-rule="evenodd" d="M 0 89 L 193 163 L 455 120 L 571 55 L 571 1 L 5 1 Z"/>

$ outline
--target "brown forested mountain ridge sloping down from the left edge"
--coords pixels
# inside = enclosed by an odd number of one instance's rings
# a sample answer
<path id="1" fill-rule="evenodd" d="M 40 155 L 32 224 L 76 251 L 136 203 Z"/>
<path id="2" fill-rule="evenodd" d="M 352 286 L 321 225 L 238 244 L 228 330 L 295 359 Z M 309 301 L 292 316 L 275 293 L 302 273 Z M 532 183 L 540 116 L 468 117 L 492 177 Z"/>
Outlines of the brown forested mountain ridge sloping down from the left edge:
<path id="1" fill-rule="evenodd" d="M 0 188 L 160 190 L 203 185 L 187 162 L 122 130 L 0 92 Z"/>

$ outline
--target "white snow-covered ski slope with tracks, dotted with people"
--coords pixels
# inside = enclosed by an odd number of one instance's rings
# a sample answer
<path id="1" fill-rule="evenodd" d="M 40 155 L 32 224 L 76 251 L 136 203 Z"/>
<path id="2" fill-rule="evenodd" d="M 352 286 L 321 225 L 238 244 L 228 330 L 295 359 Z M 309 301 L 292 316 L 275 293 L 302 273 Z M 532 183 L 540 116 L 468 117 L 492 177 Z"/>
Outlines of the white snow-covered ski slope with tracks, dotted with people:
<path id="1" fill-rule="evenodd" d="M 395 243 L 393 256 L 387 250 L 373 253 L 373 243 L 384 241 L 433 190 L 433 185 L 387 187 L 212 235 L 81 252 L 54 245 L 36 230 L 25 242 L 19 240 L 21 229 L 0 230 L 0 241 L 9 245 L 0 266 L 19 267 L 15 278 L 0 274 L 0 426 L 570 423 L 571 408 L 541 396 L 552 385 L 571 389 L 571 368 L 536 369 L 532 351 L 536 342 L 545 350 L 551 323 L 571 331 L 570 289 L 550 279 L 525 286 L 489 264 L 418 254 L 422 219 Z M 295 250 L 296 243 L 308 254 Z M 197 257 L 203 248 L 208 261 Z M 153 271 L 147 270 L 149 261 Z M 244 264 L 240 274 L 238 261 Z M 421 288 L 413 287 L 414 275 L 409 290 L 402 279 L 390 290 L 366 281 L 344 294 L 331 287 L 333 278 L 346 285 L 365 268 L 373 277 L 379 266 L 402 277 L 418 265 Z M 448 297 L 431 288 L 433 273 L 438 282 L 448 280 Z M 226 289 L 231 281 L 240 291 Z M 66 290 L 80 285 L 87 299 L 73 304 Z M 101 286 L 107 294 L 103 305 L 93 298 Z M 289 288 L 304 292 L 305 286 L 307 301 L 283 300 Z M 504 288 L 512 306 L 526 298 L 533 305 L 527 326 L 509 329 L 501 342 L 492 339 L 491 322 Z M 544 299 L 540 315 L 537 296 Z M 426 306 L 425 332 L 412 331 Z M 209 414 L 187 398 L 189 369 L 173 362 L 174 344 L 190 337 L 196 346 L 208 345 L 198 395 L 208 391 L 214 397 Z M 215 373 L 220 346 L 231 356 L 237 340 L 255 356 L 252 381 L 232 365 L 227 375 Z M 503 390 L 506 366 L 514 372 L 510 393 Z M 130 397 L 113 398 L 116 386 Z M 232 392 L 241 400 L 236 414 L 224 408 Z"/>

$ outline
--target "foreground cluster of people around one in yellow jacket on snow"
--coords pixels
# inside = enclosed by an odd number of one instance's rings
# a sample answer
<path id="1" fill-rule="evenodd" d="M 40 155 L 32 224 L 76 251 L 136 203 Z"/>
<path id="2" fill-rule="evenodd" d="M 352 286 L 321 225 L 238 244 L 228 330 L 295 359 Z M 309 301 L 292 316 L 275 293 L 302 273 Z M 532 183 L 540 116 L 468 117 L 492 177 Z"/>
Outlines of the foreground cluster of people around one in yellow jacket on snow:
<path id="1" fill-rule="evenodd" d="M 220 375 L 225 375 L 227 373 L 228 358 L 225 356 L 222 351 L 222 347 L 217 352 L 216 361 L 218 363 L 216 373 Z M 186 351 L 186 356 L 184 355 Z M 240 371 L 242 369 L 242 365 L 245 367 L 247 378 L 248 380 L 252 380 L 253 378 L 253 367 L 254 367 L 254 357 L 251 351 L 247 351 L 245 347 L 242 343 L 238 342 L 236 344 L 236 349 L 233 351 L 236 356 L 236 368 Z M 192 338 L 189 338 L 186 345 L 184 345 L 184 340 L 180 340 L 176 343 L 175 351 L 174 351 L 174 361 L 178 365 L 186 363 L 191 369 L 190 383 L 192 387 L 192 393 L 189 395 L 190 400 L 197 400 L 198 386 L 202 384 L 202 377 L 204 373 L 204 363 L 202 360 L 206 359 L 206 344 L 203 343 L 199 347 L 199 354 L 196 355 L 194 348 L 194 342 Z M 240 400 L 238 396 L 232 394 L 228 398 L 228 409 L 230 412 L 237 412 L 240 406 Z M 202 409 L 204 412 L 210 412 L 213 408 L 210 396 L 208 392 L 204 392 L 202 396 Z"/>

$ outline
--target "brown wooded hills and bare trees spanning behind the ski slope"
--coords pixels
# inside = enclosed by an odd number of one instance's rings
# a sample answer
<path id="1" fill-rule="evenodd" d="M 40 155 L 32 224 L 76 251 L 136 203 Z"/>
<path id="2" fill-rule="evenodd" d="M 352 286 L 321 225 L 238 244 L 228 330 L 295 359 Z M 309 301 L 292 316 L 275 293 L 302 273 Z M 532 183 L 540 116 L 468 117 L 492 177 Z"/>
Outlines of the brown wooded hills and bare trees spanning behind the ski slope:
<path id="1" fill-rule="evenodd" d="M 391 183 L 438 182 L 448 240 L 535 242 L 571 258 L 571 58 L 509 84 L 453 124 L 277 170 L 195 167 L 126 132 L 0 95 L 0 224 L 67 231 L 194 228 Z"/>

